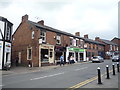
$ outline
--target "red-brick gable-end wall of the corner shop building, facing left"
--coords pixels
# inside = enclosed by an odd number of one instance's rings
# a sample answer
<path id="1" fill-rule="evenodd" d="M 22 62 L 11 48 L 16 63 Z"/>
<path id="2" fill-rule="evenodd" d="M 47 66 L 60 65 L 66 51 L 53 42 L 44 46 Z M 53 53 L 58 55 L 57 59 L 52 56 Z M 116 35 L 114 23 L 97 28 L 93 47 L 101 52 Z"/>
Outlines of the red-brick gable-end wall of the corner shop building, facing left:
<path id="1" fill-rule="evenodd" d="M 32 31 L 35 31 L 35 38 L 32 40 Z M 34 66 L 38 66 L 38 38 L 40 31 L 35 27 L 30 29 L 30 24 L 23 22 L 18 27 L 17 31 L 13 35 L 13 47 L 12 47 L 12 59 L 14 60 L 16 55 L 21 52 L 21 60 L 23 65 L 27 65 L 27 47 L 32 47 L 32 62 Z"/>

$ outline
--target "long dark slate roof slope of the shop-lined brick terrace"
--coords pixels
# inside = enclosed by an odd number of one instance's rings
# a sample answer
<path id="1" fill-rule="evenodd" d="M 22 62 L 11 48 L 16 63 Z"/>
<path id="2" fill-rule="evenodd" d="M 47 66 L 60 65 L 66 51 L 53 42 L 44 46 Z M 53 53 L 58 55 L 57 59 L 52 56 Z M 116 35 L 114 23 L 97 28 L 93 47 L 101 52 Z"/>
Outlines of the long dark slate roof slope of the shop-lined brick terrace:
<path id="1" fill-rule="evenodd" d="M 63 35 L 67 35 L 67 36 L 74 37 L 74 38 L 83 39 L 83 40 L 86 41 L 86 42 L 91 42 L 91 43 L 95 43 L 95 44 L 105 45 L 105 44 L 103 44 L 103 43 L 101 43 L 101 42 L 98 42 L 98 41 L 95 41 L 95 40 L 92 40 L 92 39 L 75 36 L 75 35 L 73 35 L 73 34 L 71 34 L 71 33 L 67 33 L 67 32 L 65 32 L 65 31 L 61 31 L 61 30 L 58 30 L 58 29 L 54 29 L 54 28 L 49 27 L 49 26 L 46 26 L 46 25 L 43 26 L 43 25 L 40 25 L 40 24 L 38 24 L 38 23 L 36 23 L 36 22 L 32 22 L 32 21 L 30 21 L 30 20 L 28 20 L 28 23 L 29 23 L 29 24 L 32 24 L 32 25 L 35 25 L 35 26 L 38 27 L 38 28 L 43 28 L 43 29 L 48 30 L 48 31 L 60 33 L 60 34 L 63 34 Z"/>

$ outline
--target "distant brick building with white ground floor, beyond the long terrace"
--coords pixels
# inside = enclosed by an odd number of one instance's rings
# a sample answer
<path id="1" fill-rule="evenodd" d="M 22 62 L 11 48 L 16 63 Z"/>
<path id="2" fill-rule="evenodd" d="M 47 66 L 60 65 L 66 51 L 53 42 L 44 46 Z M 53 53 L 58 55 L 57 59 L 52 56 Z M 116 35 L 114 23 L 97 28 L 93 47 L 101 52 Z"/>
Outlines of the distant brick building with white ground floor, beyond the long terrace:
<path id="1" fill-rule="evenodd" d="M 114 55 L 114 52 L 118 51 L 118 45 L 112 41 L 100 39 L 99 37 L 96 37 L 95 40 L 105 44 L 106 59 L 110 59 L 111 56 Z"/>

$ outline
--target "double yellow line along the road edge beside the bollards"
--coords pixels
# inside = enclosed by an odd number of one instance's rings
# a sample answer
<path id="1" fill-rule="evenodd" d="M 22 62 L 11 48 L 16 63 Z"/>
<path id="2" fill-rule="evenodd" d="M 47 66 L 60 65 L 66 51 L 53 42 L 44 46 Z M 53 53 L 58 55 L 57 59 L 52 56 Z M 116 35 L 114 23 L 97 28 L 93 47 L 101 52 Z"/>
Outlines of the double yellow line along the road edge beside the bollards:
<path id="1" fill-rule="evenodd" d="M 111 73 L 112 70 L 110 70 L 109 72 Z M 101 77 L 103 77 L 105 74 L 106 74 L 106 73 L 102 74 Z M 96 80 L 97 78 L 98 78 L 98 76 L 95 76 L 95 77 L 90 78 L 90 79 L 88 79 L 88 80 L 85 80 L 85 81 L 83 81 L 83 82 L 81 82 L 81 83 L 78 83 L 78 84 L 76 84 L 76 85 L 74 85 L 74 86 L 72 86 L 72 87 L 69 87 L 69 88 L 66 89 L 66 90 L 74 90 L 74 89 L 76 89 L 76 88 L 80 88 L 80 87 L 82 87 L 82 86 L 84 86 L 84 85 L 86 85 L 86 84 L 88 84 L 88 83 Z"/>

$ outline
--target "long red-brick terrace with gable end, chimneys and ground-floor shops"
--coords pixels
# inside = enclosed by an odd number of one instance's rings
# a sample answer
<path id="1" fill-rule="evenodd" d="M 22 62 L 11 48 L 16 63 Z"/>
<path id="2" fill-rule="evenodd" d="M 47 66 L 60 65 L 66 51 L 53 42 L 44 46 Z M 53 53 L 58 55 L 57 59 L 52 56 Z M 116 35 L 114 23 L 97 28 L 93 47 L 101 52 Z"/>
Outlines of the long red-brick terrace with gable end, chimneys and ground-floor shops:
<path id="1" fill-rule="evenodd" d="M 22 17 L 22 21 L 13 34 L 12 59 L 19 57 L 19 64 L 32 66 L 53 65 L 59 61 L 63 54 L 65 62 L 69 56 L 74 56 L 75 61 L 80 59 L 86 61 L 86 49 L 84 43 L 94 43 L 97 47 L 103 46 L 97 41 L 80 37 L 52 27 L 46 26 L 44 21 L 32 22 L 28 15 Z M 91 50 L 93 51 L 94 48 Z M 96 50 L 96 54 L 98 50 Z"/>

